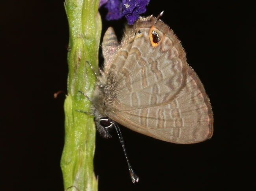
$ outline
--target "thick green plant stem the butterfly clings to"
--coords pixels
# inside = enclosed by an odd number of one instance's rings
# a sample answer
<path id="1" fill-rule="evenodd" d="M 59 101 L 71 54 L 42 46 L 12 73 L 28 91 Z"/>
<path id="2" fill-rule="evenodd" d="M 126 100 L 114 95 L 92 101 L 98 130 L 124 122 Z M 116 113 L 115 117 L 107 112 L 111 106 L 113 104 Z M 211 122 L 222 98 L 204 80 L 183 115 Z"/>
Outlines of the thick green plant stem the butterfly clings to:
<path id="1" fill-rule="evenodd" d="M 101 35 L 99 0 L 65 0 L 69 22 L 68 94 L 64 103 L 65 145 L 61 156 L 61 169 L 65 190 L 96 191 L 97 180 L 93 172 L 95 151 L 95 124 L 89 100 L 95 86 L 94 71 L 98 71 L 98 48 Z M 75 187 L 74 187 L 75 186 Z"/>

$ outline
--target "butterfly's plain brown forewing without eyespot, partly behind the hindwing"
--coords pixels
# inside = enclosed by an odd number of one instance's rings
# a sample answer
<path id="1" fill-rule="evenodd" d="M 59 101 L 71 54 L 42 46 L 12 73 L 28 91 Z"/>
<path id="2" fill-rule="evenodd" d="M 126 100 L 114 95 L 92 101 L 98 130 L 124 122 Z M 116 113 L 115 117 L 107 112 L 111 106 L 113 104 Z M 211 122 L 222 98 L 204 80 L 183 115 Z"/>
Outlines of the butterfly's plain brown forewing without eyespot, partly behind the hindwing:
<path id="1" fill-rule="evenodd" d="M 213 133 L 213 114 L 204 87 L 192 69 L 179 94 L 168 103 L 109 116 L 138 133 L 178 144 L 202 142 Z"/>

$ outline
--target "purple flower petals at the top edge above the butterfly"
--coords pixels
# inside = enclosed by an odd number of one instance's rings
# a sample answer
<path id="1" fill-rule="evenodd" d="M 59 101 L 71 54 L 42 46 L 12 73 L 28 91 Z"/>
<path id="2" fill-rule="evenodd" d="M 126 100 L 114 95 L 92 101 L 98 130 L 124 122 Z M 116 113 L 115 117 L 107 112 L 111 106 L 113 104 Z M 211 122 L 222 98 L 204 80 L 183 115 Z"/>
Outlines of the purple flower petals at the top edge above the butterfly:
<path id="1" fill-rule="evenodd" d="M 100 0 L 100 6 L 105 4 L 108 9 L 107 20 L 117 20 L 125 16 L 129 25 L 146 12 L 148 3 L 149 0 Z"/>

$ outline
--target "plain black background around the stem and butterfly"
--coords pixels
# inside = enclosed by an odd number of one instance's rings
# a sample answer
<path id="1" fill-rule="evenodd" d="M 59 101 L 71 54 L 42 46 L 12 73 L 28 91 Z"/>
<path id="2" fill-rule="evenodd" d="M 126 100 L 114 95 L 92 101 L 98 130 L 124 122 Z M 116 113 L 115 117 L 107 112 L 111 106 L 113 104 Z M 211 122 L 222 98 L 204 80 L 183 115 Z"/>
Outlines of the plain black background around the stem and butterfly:
<path id="1" fill-rule="evenodd" d="M 251 5 L 151 0 L 147 13 L 165 10 L 188 63 L 210 97 L 211 140 L 177 145 L 122 128 L 139 183 L 132 184 L 117 136 L 97 135 L 99 191 L 255 189 L 255 20 Z M 63 1 L 1 3 L 1 190 L 63 190 L 69 31 Z M 103 31 L 109 25 L 103 9 Z M 121 34 L 121 33 L 120 33 Z M 113 133 L 112 133 L 113 134 Z"/>

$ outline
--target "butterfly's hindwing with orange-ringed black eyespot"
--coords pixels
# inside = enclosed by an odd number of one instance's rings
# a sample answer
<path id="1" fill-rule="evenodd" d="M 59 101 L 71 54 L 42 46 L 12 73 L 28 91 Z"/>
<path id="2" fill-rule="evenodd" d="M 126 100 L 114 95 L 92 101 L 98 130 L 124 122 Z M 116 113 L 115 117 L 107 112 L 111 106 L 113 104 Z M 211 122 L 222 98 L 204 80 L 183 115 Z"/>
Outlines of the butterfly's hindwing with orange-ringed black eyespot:
<path id="1" fill-rule="evenodd" d="M 167 103 L 184 86 L 188 69 L 184 49 L 167 25 L 161 21 L 154 25 L 155 22 L 155 18 L 137 21 L 126 31 L 113 59 L 109 74 L 118 82 L 112 103 L 117 110 Z M 159 42 L 150 39 L 152 36 Z"/>

